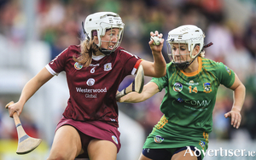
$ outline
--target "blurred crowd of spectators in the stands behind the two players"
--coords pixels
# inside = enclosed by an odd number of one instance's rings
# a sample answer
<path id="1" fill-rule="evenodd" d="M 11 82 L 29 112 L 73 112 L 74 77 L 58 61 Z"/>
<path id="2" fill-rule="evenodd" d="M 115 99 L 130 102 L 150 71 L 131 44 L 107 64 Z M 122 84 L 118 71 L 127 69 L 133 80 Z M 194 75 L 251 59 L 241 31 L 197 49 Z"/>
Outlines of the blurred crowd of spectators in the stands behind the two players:
<path id="1" fill-rule="evenodd" d="M 255 5 L 254 1 L 250 3 Z M 15 45 L 22 45 L 28 38 L 23 7 L 20 0 L 0 0 L 0 37 L 5 37 Z M 206 57 L 229 66 L 246 85 L 241 129 L 251 139 L 256 139 L 256 13 L 253 13 L 253 9 L 249 20 L 237 25 L 236 20 L 230 20 L 227 16 L 223 0 L 38 0 L 32 40 L 48 43 L 53 59 L 69 45 L 80 43 L 84 38 L 81 22 L 88 14 L 98 11 L 118 13 L 125 23 L 121 46 L 131 54 L 151 61 L 152 54 L 148 46 L 150 31 L 160 31 L 166 39 L 168 31 L 177 26 L 191 24 L 201 27 L 206 34 L 205 43 L 213 43 L 206 49 Z M 163 54 L 166 62 L 170 62 L 166 44 Z M 120 89 L 131 83 L 131 79 L 127 77 Z M 146 83 L 150 79 L 146 77 Z M 162 91 L 137 104 L 119 103 L 119 110 L 141 123 L 148 134 L 162 116 L 160 102 L 164 94 Z M 221 87 L 218 90 L 210 138 L 230 140 L 236 132 L 230 125 L 230 119 L 224 118 L 224 113 L 230 111 L 232 98 L 229 89 Z M 1 108 L 0 139 L 8 137 L 3 129 L 6 125 L 1 121 Z M 37 134 L 36 128 L 32 129 Z"/>

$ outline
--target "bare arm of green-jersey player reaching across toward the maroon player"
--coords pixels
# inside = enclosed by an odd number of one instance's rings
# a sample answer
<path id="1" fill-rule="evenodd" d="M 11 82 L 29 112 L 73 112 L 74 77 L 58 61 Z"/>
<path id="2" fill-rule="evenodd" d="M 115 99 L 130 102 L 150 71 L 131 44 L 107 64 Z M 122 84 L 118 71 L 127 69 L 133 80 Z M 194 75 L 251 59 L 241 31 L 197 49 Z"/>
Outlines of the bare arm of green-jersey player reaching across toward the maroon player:
<path id="1" fill-rule="evenodd" d="M 126 94 L 125 96 L 119 99 L 119 102 L 127 102 L 127 103 L 138 103 L 144 100 L 148 100 L 154 94 L 158 93 L 160 90 L 156 83 L 149 82 L 143 87 L 143 92 L 138 94 L 137 92 L 131 92 Z"/>

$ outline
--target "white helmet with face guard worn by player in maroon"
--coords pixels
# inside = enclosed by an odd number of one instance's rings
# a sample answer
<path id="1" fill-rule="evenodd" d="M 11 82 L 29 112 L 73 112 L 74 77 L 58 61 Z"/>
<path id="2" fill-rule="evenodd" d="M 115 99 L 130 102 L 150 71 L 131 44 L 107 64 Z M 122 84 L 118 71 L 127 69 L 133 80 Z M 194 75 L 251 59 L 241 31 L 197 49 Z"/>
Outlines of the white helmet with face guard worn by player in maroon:
<path id="1" fill-rule="evenodd" d="M 113 12 L 98 12 L 95 14 L 90 14 L 86 17 L 84 21 L 84 30 L 89 38 L 93 37 L 92 31 L 96 31 L 99 43 L 96 45 L 101 49 L 102 36 L 105 35 L 107 29 L 119 28 L 119 39 L 113 50 L 104 49 L 103 53 L 111 53 L 119 47 L 122 41 L 123 31 L 125 24 L 119 17 L 119 14 Z"/>

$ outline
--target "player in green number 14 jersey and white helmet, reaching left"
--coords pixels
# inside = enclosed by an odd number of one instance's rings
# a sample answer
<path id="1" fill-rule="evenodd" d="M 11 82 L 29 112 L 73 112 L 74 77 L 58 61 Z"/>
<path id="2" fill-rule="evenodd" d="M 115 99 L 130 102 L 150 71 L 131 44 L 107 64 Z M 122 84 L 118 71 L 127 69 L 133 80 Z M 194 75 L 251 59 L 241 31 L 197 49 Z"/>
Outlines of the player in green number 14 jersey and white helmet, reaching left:
<path id="1" fill-rule="evenodd" d="M 169 31 L 166 40 L 172 61 L 166 76 L 153 78 L 141 94 L 130 93 L 119 102 L 147 100 L 162 89 L 166 94 L 160 105 L 164 115 L 154 126 L 143 146 L 140 160 L 201 160 L 212 131 L 212 110 L 218 86 L 234 90 L 234 103 L 224 117 L 238 129 L 245 87 L 236 73 L 223 63 L 204 58 L 204 33 L 197 26 L 179 26 Z"/>

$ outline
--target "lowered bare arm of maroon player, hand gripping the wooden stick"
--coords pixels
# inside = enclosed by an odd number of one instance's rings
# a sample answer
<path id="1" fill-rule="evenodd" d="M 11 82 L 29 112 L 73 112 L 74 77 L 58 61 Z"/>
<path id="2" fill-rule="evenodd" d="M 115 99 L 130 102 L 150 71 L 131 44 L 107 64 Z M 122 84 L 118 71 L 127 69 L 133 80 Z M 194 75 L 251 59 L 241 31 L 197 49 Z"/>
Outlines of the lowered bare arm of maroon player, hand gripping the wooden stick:
<path id="1" fill-rule="evenodd" d="M 53 75 L 50 74 L 45 67 L 39 71 L 35 77 L 32 77 L 32 79 L 29 80 L 22 89 L 20 100 L 14 105 L 9 106 L 9 116 L 13 117 L 15 111 L 17 111 L 18 115 L 20 116 L 26 101 L 29 100 L 32 95 L 35 94 L 42 85 L 44 85 L 44 83 L 49 81 L 51 77 L 53 77 Z"/>

